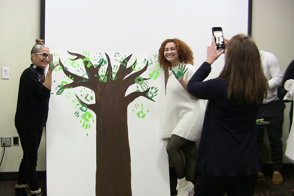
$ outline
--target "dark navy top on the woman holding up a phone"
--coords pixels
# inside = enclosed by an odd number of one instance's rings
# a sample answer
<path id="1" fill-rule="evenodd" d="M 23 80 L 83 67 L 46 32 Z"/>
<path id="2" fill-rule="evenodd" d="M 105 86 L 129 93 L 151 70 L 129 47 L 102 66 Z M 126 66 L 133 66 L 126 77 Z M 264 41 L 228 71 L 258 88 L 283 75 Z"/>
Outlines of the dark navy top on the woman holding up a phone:
<path id="1" fill-rule="evenodd" d="M 203 80 L 211 66 L 204 62 L 187 85 L 199 99 L 209 100 L 205 111 L 195 170 L 200 175 L 240 176 L 258 173 L 256 118 L 259 106 L 228 100 L 228 82 Z"/>

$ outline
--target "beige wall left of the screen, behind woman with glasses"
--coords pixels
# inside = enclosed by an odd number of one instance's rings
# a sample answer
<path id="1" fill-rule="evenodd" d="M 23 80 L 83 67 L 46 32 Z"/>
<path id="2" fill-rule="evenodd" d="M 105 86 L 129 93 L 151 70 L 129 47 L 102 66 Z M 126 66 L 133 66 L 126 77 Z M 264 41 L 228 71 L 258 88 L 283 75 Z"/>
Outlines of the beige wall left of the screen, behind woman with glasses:
<path id="1" fill-rule="evenodd" d="M 0 137 L 18 136 L 14 126 L 19 78 L 30 65 L 30 51 L 40 37 L 40 0 L 0 2 L 0 70 L 9 67 L 9 79 L 0 79 Z M 45 133 L 43 134 L 45 135 Z M 39 148 L 38 171 L 46 170 L 45 137 Z M 0 149 L 2 158 L 3 147 Z M 2 171 L 18 171 L 21 145 L 6 147 Z"/>

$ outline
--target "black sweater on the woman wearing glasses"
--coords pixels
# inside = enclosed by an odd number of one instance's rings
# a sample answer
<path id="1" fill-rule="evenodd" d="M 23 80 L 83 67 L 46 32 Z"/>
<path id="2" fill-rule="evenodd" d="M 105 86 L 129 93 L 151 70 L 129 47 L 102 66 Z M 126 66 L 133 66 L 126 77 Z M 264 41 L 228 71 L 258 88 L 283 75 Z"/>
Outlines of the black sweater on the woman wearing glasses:
<path id="1" fill-rule="evenodd" d="M 19 81 L 15 127 L 42 129 L 48 117 L 50 90 L 44 83 L 44 70 L 31 64 Z"/>

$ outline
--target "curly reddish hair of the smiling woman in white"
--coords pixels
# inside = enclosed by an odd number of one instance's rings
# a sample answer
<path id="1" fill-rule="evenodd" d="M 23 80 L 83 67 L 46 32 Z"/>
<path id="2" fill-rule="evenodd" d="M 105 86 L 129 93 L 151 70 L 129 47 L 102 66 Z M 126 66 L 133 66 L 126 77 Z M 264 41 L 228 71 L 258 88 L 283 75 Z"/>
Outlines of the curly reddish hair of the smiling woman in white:
<path id="1" fill-rule="evenodd" d="M 187 45 L 187 43 L 183 42 L 182 40 L 179 39 L 166 39 L 164 42 L 161 44 L 159 51 L 158 51 L 158 62 L 160 64 L 160 67 L 162 67 L 164 70 L 171 70 L 171 62 L 166 60 L 164 57 L 164 47 L 166 43 L 168 42 L 173 42 L 175 43 L 175 49 L 177 50 L 179 54 L 179 60 L 180 62 L 183 62 L 185 64 L 191 64 L 193 65 L 194 62 L 194 57 L 193 57 L 193 52 L 191 48 Z"/>

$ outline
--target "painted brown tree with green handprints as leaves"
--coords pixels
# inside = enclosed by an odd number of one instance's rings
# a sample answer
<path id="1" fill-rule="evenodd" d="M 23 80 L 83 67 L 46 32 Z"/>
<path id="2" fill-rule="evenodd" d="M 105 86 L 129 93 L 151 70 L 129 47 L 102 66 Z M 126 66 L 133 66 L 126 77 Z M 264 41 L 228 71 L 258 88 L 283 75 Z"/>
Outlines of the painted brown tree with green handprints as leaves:
<path id="1" fill-rule="evenodd" d="M 78 95 L 75 96 L 81 105 L 80 111 L 84 112 L 82 126 L 85 129 L 89 128 L 89 121 L 92 118 L 88 110 L 96 114 L 96 196 L 131 196 L 127 107 L 139 96 L 154 101 L 153 97 L 156 96 L 158 90 L 156 87 L 149 87 L 146 80 L 158 77 L 159 72 L 154 70 L 149 74 L 150 78 L 142 78 L 141 74 L 147 70 L 150 63 L 146 61 L 145 66 L 137 70 L 137 59 L 128 65 L 132 55 L 123 57 L 119 61 L 119 66 L 112 67 L 106 53 L 106 59 L 100 58 L 97 64 L 93 64 L 90 58 L 84 55 L 69 51 L 68 53 L 75 56 L 70 59 L 72 62 L 81 61 L 83 63 L 86 72 L 83 74 L 70 72 L 59 58 L 60 68 L 72 82 L 62 82 L 58 85 L 57 95 L 75 87 L 85 87 L 94 92 L 95 96 L 89 97 L 87 94 L 83 99 Z M 134 84 L 139 84 L 141 89 L 138 88 L 126 94 L 127 89 Z M 95 100 L 95 103 L 89 104 L 86 100 Z M 135 106 L 139 108 L 138 103 Z M 140 118 L 145 116 L 143 110 L 139 109 L 136 114 Z M 93 119 L 92 122 L 94 122 Z"/>

